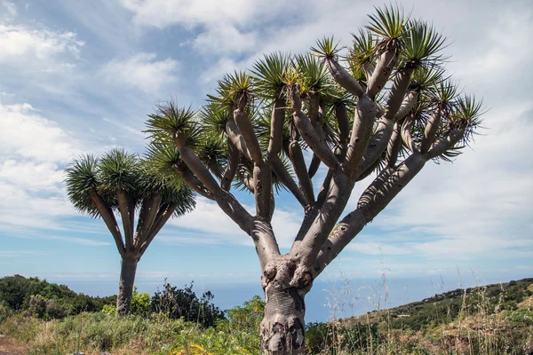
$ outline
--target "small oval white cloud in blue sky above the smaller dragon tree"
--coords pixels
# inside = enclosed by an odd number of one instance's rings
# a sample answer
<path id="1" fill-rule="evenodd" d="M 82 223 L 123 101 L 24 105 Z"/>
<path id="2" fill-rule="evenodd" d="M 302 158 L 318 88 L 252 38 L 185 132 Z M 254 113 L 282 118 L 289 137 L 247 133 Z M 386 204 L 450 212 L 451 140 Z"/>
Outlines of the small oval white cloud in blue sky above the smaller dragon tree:
<path id="1" fill-rule="evenodd" d="M 179 62 L 155 60 L 155 53 L 139 53 L 128 59 L 113 59 L 102 69 L 107 83 L 130 85 L 140 91 L 153 92 L 175 83 Z"/>

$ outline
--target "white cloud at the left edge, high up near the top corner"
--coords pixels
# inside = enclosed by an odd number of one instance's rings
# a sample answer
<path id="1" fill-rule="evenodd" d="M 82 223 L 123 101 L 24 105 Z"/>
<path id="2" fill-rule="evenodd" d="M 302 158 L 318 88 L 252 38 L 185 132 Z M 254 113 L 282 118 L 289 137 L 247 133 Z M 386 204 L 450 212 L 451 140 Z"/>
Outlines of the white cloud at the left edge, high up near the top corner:
<path id="1" fill-rule="evenodd" d="M 70 59 L 79 59 L 82 41 L 74 32 L 33 29 L 0 23 L 0 63 L 26 70 L 55 71 L 72 67 Z M 65 60 L 56 60 L 67 56 Z"/>

